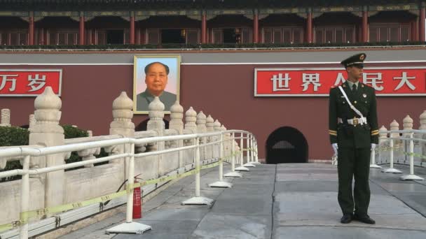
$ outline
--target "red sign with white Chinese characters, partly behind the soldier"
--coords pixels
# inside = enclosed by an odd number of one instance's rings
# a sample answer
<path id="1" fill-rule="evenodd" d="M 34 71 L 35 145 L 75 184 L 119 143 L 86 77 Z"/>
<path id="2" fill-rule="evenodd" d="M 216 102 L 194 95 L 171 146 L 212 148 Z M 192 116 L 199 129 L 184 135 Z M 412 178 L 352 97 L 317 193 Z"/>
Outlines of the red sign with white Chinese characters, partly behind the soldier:
<path id="1" fill-rule="evenodd" d="M 345 82 L 343 68 L 255 68 L 254 96 L 328 96 Z M 364 84 L 378 96 L 426 96 L 426 67 L 364 68 Z"/>

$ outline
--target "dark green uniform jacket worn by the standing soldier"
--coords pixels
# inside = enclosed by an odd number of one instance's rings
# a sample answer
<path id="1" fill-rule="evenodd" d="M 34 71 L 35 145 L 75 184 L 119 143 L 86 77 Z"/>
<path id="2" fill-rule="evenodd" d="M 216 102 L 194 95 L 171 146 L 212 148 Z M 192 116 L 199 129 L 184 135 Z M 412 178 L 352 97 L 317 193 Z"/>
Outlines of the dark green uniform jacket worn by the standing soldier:
<path id="1" fill-rule="evenodd" d="M 359 115 L 352 110 L 338 87 L 330 89 L 329 96 L 329 135 L 331 143 L 338 143 L 338 147 L 371 147 L 371 143 L 378 144 L 378 122 L 376 110 L 376 93 L 368 85 L 359 82 L 357 92 L 352 93 L 348 82 L 341 85 L 348 99 L 364 117 L 367 124 L 353 126 L 338 123 L 338 118 L 353 119 Z"/>

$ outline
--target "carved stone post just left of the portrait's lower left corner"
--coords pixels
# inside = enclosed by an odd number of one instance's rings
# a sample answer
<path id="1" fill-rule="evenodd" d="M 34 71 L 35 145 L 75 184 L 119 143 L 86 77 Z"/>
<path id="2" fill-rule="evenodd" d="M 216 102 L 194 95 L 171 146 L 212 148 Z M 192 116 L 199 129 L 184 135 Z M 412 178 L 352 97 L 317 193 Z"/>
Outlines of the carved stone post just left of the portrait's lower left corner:
<path id="1" fill-rule="evenodd" d="M 111 124 L 109 124 L 110 135 L 121 135 L 128 138 L 135 137 L 135 124 L 132 122 L 133 101 L 125 92 L 121 92 L 120 96 L 114 99 L 112 103 L 112 117 L 113 121 Z M 116 145 L 115 147 L 105 148 L 105 151 L 109 154 L 121 154 L 124 152 L 125 148 L 130 150 L 130 146 L 125 147 L 125 145 Z M 119 159 L 113 160 L 111 162 L 114 164 L 123 163 L 123 161 Z M 125 177 L 126 175 L 128 175 L 127 169 L 125 169 Z"/>

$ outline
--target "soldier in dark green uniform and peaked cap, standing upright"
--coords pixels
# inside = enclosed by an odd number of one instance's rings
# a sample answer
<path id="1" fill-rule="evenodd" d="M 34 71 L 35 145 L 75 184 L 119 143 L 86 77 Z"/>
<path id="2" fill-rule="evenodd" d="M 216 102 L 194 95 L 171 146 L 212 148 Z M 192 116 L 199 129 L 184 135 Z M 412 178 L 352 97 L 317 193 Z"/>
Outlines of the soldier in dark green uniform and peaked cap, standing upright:
<path id="1" fill-rule="evenodd" d="M 362 53 L 341 62 L 348 71 L 348 80 L 331 87 L 329 96 L 329 135 L 338 155 L 338 203 L 343 224 L 352 219 L 375 224 L 367 211 L 370 155 L 378 144 L 378 122 L 376 93 L 372 87 L 359 82 L 365 58 Z M 353 196 L 352 178 L 355 179 Z"/>

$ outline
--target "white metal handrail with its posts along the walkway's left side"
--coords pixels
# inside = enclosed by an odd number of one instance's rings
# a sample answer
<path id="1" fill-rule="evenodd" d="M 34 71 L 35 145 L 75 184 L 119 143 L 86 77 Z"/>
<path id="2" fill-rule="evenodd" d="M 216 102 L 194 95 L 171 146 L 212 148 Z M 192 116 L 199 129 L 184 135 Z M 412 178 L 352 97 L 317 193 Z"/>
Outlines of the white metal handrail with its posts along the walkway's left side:
<path id="1" fill-rule="evenodd" d="M 224 138 L 224 135 L 226 133 L 232 133 L 231 138 Z M 235 133 L 240 133 L 240 137 L 235 137 Z M 247 135 L 246 137 L 244 135 Z M 203 137 L 212 137 L 212 136 L 220 136 L 219 140 L 215 140 L 214 142 L 205 143 L 200 145 L 200 138 Z M 21 186 L 21 212 L 26 212 L 29 209 L 29 175 L 39 175 L 41 173 L 50 173 L 53 171 L 60 171 L 67 168 L 74 168 L 78 166 L 85 166 L 88 164 L 96 164 L 104 161 L 110 161 L 114 159 L 126 159 L 125 163 L 128 165 L 128 184 L 132 185 L 134 183 L 134 171 L 135 171 L 135 157 L 146 157 L 150 155 L 156 155 L 156 154 L 165 154 L 168 152 L 176 152 L 180 150 L 191 150 L 196 149 L 196 153 L 194 156 L 195 160 L 195 168 L 198 168 L 198 171 L 196 171 L 195 175 L 195 196 L 200 196 L 200 172 L 199 172 L 199 166 L 200 166 L 200 147 L 205 147 L 207 145 L 219 145 L 219 181 L 222 180 L 223 175 L 223 157 L 224 157 L 224 142 L 229 140 L 235 140 L 239 138 L 240 139 L 240 151 L 238 154 L 240 154 L 240 162 L 242 163 L 242 155 L 243 155 L 243 147 L 242 143 L 244 139 L 247 138 L 247 150 L 249 150 L 249 147 L 253 147 L 253 145 L 256 144 L 256 138 L 254 135 L 248 131 L 242 131 L 242 130 L 226 130 L 226 131 L 215 131 L 215 132 L 209 132 L 209 133 L 192 133 L 192 134 L 186 134 L 186 135 L 179 135 L 179 136 L 157 136 L 157 137 L 149 137 L 149 138 L 115 138 L 115 139 L 108 139 L 108 140 L 99 140 L 99 141 L 91 141 L 91 142 L 85 142 L 85 143 L 73 143 L 69 145 L 58 145 L 58 146 L 51 146 L 51 147 L 43 147 L 43 148 L 29 148 L 24 146 L 18 146 L 18 147 L 11 147 L 4 150 L 0 150 L 0 157 L 17 157 L 17 156 L 23 156 L 24 161 L 22 164 L 22 169 L 16 169 L 12 171 L 6 171 L 6 172 L 0 172 L 0 178 L 10 177 L 13 175 L 22 175 L 22 186 Z M 184 147 L 177 147 L 172 148 L 168 150 L 159 150 L 156 152 L 143 152 L 139 154 L 135 154 L 135 145 L 136 144 L 144 144 L 144 143 L 158 143 L 161 141 L 167 141 L 167 140 L 186 140 L 186 139 L 195 139 L 194 145 L 190 146 L 184 146 Z M 121 154 L 114 154 L 108 157 L 102 157 L 98 159 L 89 159 L 85 161 L 78 161 L 71 164 L 62 164 L 58 166 L 48 166 L 45 168 L 36 168 L 36 169 L 29 169 L 29 162 L 31 157 L 40 157 L 43 155 L 48 154 L 64 154 L 67 152 L 72 151 L 79 151 L 79 150 L 88 150 L 92 148 L 97 147 L 108 147 L 112 145 L 130 145 L 130 152 L 124 152 Z M 233 150 L 234 147 L 233 147 Z M 253 149 L 251 149 L 253 150 Z M 235 151 L 234 151 L 235 152 Z M 254 153 L 256 155 L 254 155 Z M 254 150 L 254 153 L 252 152 L 249 154 L 247 152 L 247 163 L 249 162 L 249 159 L 257 159 L 257 150 Z M 232 154 L 232 152 L 231 152 Z M 232 157 L 232 165 L 234 164 L 235 157 Z M 130 192 L 128 192 L 127 195 L 127 210 L 126 210 L 126 222 L 132 222 L 132 197 L 133 197 L 133 191 L 130 189 Z M 20 224 L 20 238 L 27 238 L 28 237 L 28 222 L 27 220 L 24 220 Z"/>

